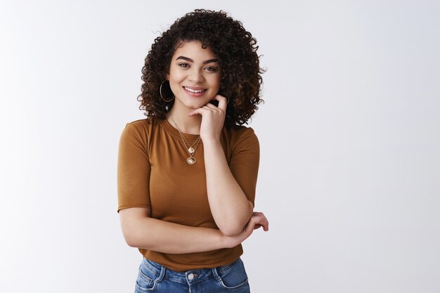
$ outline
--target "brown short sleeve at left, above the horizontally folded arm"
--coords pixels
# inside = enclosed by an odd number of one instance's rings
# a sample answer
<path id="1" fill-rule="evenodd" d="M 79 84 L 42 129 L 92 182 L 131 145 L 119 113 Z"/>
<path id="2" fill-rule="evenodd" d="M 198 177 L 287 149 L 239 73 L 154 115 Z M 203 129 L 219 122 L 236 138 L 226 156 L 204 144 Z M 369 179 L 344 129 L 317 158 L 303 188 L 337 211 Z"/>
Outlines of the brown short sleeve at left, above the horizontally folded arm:
<path id="1" fill-rule="evenodd" d="M 129 207 L 150 208 L 150 162 L 146 131 L 127 124 L 119 140 L 117 158 L 117 211 Z"/>

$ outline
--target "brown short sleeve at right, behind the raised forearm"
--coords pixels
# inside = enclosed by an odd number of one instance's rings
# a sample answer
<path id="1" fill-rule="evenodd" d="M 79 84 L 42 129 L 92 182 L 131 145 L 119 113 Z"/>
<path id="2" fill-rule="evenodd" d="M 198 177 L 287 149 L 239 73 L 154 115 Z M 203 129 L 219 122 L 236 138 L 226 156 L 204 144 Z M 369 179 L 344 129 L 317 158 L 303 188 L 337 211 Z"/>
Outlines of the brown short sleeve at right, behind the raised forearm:
<path id="1" fill-rule="evenodd" d="M 259 167 L 259 142 L 252 128 L 242 131 L 231 153 L 229 168 L 247 200 L 254 204 Z"/>

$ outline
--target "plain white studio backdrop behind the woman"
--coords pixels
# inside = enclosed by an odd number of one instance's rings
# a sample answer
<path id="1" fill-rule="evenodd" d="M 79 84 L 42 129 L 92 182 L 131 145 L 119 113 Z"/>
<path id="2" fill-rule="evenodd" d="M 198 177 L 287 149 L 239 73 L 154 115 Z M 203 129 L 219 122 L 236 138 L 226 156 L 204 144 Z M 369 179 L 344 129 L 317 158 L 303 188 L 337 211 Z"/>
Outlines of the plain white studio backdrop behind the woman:
<path id="1" fill-rule="evenodd" d="M 252 292 L 440 292 L 439 1 L 0 1 L 0 292 L 134 292 L 119 135 L 194 8 L 257 38 Z"/>

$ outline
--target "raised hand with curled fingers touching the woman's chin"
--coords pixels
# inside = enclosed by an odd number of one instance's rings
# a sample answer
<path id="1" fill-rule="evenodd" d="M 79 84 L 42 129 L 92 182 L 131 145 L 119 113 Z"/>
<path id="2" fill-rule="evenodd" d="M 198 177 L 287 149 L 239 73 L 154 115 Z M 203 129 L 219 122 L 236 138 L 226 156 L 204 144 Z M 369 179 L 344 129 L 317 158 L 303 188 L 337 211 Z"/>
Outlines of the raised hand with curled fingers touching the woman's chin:
<path id="1" fill-rule="evenodd" d="M 191 111 L 188 115 L 202 115 L 202 124 L 200 125 L 200 138 L 207 143 L 208 141 L 219 140 L 221 129 L 223 129 L 226 106 L 228 99 L 224 96 L 216 95 L 212 100 L 218 100 L 219 106 L 216 107 L 212 103 L 207 103 L 201 108 Z"/>

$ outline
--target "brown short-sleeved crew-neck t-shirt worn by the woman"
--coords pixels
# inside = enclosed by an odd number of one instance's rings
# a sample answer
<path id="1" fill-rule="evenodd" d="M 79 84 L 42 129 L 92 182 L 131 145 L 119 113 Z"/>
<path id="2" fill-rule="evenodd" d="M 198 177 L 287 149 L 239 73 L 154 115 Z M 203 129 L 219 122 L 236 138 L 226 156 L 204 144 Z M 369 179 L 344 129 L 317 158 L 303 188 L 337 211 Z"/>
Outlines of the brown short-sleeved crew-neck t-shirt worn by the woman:
<path id="1" fill-rule="evenodd" d="M 190 145 L 198 138 L 192 134 L 183 136 Z M 259 166 L 257 136 L 252 128 L 245 126 L 224 128 L 220 141 L 235 180 L 254 203 Z M 117 211 L 147 207 L 155 219 L 218 229 L 209 209 L 203 153 L 200 141 L 194 154 L 197 162 L 188 164 L 188 151 L 179 131 L 167 119 L 157 122 L 141 119 L 127 124 L 119 141 Z M 231 263 L 242 254 L 242 246 L 190 254 L 139 251 L 146 259 L 174 271 L 189 271 Z"/>

